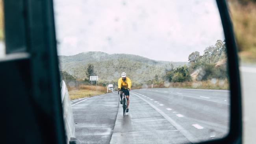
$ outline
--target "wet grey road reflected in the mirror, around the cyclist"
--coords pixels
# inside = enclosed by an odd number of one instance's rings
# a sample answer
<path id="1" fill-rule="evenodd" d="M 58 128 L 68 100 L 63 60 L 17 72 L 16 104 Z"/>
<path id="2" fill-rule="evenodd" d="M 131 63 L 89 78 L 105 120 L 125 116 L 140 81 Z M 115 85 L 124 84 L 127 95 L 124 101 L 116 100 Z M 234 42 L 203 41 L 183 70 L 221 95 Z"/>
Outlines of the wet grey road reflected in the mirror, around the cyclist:
<path id="1" fill-rule="evenodd" d="M 82 143 L 194 143 L 228 132 L 225 90 L 140 89 L 130 92 L 122 115 L 117 93 L 73 102 L 76 137 Z"/>

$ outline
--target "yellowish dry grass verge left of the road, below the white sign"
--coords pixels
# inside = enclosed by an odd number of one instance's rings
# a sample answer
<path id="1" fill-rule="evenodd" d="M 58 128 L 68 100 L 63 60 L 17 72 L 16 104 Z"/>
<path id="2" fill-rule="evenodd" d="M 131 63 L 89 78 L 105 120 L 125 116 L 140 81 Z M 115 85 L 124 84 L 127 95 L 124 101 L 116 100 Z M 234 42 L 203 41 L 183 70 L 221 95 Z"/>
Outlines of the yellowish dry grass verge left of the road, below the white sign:
<path id="1" fill-rule="evenodd" d="M 78 89 L 78 90 L 71 90 L 69 91 L 69 99 L 74 100 L 77 98 L 85 98 L 85 97 L 91 97 L 99 94 L 104 94 L 104 92 L 100 91 L 91 91 L 86 89 Z"/>

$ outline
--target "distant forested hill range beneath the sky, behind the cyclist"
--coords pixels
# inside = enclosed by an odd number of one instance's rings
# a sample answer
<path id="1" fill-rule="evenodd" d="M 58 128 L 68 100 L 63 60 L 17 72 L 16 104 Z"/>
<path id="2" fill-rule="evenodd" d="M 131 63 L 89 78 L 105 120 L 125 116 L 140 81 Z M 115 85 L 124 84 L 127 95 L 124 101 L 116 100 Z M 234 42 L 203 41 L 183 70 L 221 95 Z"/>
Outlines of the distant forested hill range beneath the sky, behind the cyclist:
<path id="1" fill-rule="evenodd" d="M 83 52 L 72 56 L 59 56 L 61 71 L 85 79 L 87 65 L 94 66 L 99 80 L 116 81 L 122 72 L 136 82 L 148 81 L 158 75 L 162 79 L 165 69 L 187 65 L 187 62 L 155 61 L 132 54 L 107 54 L 104 52 Z"/>

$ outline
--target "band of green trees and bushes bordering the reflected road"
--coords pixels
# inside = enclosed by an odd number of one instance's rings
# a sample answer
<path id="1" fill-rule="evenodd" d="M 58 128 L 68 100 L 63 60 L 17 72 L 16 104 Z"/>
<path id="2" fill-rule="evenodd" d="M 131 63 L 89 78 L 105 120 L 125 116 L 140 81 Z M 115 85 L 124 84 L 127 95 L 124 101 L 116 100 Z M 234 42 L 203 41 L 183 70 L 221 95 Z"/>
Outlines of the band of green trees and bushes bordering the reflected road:
<path id="1" fill-rule="evenodd" d="M 142 88 L 193 88 L 193 89 L 228 89 L 227 59 L 225 41 L 217 40 L 212 46 L 205 48 L 204 53 L 192 52 L 188 56 L 188 63 L 183 66 L 170 64 L 165 67 L 163 73 L 155 73 L 148 80 L 143 78 L 132 79 L 132 89 Z M 106 66 L 108 68 L 108 66 Z M 96 76 L 95 65 L 89 63 L 83 69 L 85 78 L 80 79 L 71 76 L 67 72 L 61 72 L 62 79 L 66 81 L 69 91 L 91 90 L 90 76 Z M 115 73 L 109 72 L 109 76 Z M 119 74 L 119 73 L 118 73 Z M 120 78 L 120 76 L 118 76 Z M 118 78 L 111 81 L 99 77 L 98 91 L 106 93 L 107 85 L 113 84 L 117 90 Z M 143 81 L 144 80 L 144 81 Z M 96 91 L 96 83 L 93 81 L 93 91 Z M 80 92 L 80 91 L 74 91 Z M 85 92 L 85 91 L 83 91 Z M 89 95 L 89 93 L 83 94 Z"/>

